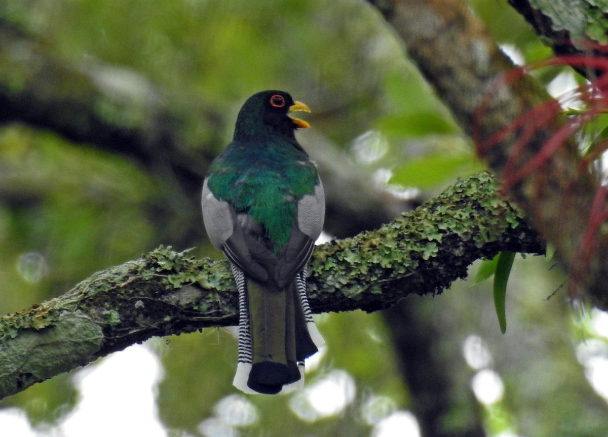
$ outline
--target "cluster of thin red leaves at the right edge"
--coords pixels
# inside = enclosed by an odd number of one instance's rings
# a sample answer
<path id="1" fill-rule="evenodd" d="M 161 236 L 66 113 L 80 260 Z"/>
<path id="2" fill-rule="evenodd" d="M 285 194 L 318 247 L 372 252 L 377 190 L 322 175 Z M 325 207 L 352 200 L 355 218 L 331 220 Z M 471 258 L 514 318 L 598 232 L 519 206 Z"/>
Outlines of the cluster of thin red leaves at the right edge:
<path id="1" fill-rule="evenodd" d="M 513 119 L 508 125 L 499 131 L 488 134 L 482 132 L 480 126 L 481 117 L 485 114 L 493 99 L 499 98 L 505 84 L 519 80 L 534 69 L 548 66 L 570 66 L 578 71 L 584 71 L 591 78 L 589 82 L 582 84 L 568 95 L 583 109 L 565 112 L 562 105 L 554 98 L 536 105 L 530 111 Z M 563 102 L 563 100 L 562 100 Z M 517 67 L 504 75 L 496 82 L 486 99 L 479 106 L 474 123 L 473 138 L 480 156 L 488 154 L 490 149 L 499 143 L 512 141 L 508 156 L 504 158 L 500 173 L 502 174 L 502 190 L 504 193 L 512 190 L 514 186 L 529 177 L 542 177 L 544 165 L 554 156 L 562 145 L 572 141 L 573 136 L 582 129 L 588 128 L 590 122 L 598 120 L 602 114 L 608 113 L 608 47 L 590 44 L 590 55 L 565 55 L 550 60 L 531 64 L 527 67 Z M 545 126 L 558 119 L 564 121 L 558 128 L 551 130 L 551 135 L 543 138 L 541 131 Z M 605 129 L 606 130 L 606 129 Z M 585 153 L 581 151 L 581 162 L 578 166 L 578 174 L 586 174 L 597 165 L 604 151 L 608 150 L 607 132 L 596 136 L 592 145 Z M 541 136 L 539 136 L 541 134 Z M 567 195 L 567 194 L 564 194 Z M 575 252 L 575 259 L 570 263 L 573 288 L 576 283 L 582 281 L 587 266 L 592 260 L 593 253 L 598 249 L 597 236 L 602 225 L 608 221 L 608 210 L 606 199 L 608 188 L 598 184 L 593 204 L 589 211 L 581 211 L 581 215 L 588 215 L 587 228 L 582 235 L 579 246 Z"/>

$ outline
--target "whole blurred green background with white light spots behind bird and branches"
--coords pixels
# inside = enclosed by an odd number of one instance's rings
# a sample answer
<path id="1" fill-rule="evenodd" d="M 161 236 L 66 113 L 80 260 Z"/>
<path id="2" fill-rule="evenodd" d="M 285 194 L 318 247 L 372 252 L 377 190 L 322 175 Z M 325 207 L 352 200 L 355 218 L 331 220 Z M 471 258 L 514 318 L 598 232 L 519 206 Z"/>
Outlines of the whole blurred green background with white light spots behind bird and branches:
<path id="1" fill-rule="evenodd" d="M 470 4 L 517 63 L 551 56 L 506 2 Z M 534 74 L 554 95 L 579 80 Z M 263 89 L 313 109 L 299 139 L 328 191 L 324 238 L 378 227 L 483 168 L 366 2 L 0 0 L 0 314 L 159 244 L 221 256 L 202 178 Z M 319 315 L 327 345 L 289 396 L 232 387 L 229 329 L 153 339 L 4 399 L 1 433 L 608 435 L 608 315 L 568 303 L 565 280 L 518 256 L 505 335 L 489 281 Z"/>

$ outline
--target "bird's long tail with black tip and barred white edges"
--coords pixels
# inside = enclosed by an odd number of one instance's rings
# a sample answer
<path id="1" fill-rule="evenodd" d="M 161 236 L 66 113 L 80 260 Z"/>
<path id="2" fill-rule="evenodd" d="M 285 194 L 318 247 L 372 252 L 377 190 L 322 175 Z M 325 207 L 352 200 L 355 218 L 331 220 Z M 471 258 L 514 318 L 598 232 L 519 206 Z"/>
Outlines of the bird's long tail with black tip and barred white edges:
<path id="1" fill-rule="evenodd" d="M 284 289 L 260 284 L 232 267 L 239 292 L 238 365 L 233 385 L 275 394 L 303 387 L 304 359 L 324 344 L 300 272 Z"/>

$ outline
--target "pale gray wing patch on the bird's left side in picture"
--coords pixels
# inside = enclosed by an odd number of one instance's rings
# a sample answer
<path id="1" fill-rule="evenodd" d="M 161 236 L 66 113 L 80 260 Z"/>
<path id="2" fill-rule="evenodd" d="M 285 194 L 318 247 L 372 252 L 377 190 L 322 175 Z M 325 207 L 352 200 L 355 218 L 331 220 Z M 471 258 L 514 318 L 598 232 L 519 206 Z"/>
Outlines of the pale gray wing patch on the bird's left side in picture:
<path id="1" fill-rule="evenodd" d="M 207 230 L 211 244 L 216 249 L 221 250 L 226 240 L 232 236 L 234 223 L 232 221 L 230 205 L 213 196 L 213 193 L 207 186 L 207 179 L 202 184 L 201 207 L 202 221 L 205 223 L 205 229 Z"/>

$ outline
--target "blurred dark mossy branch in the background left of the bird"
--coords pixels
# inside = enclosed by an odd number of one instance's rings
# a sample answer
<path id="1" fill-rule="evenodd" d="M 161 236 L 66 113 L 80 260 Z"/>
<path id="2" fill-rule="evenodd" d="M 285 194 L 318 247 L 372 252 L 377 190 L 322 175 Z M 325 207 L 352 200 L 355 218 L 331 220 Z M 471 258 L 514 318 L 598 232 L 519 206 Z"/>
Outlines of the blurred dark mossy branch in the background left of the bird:
<path id="1" fill-rule="evenodd" d="M 166 162 L 176 174 L 194 175 L 199 188 L 201 149 L 184 146 L 187 120 L 162 90 L 125 67 L 91 60 L 72 65 L 50 53 L 43 43 L 0 19 L 0 125 L 26 123 L 147 165 Z M 200 123 L 207 140 L 219 140 L 224 125 L 215 108 L 199 103 L 182 109 Z"/>

